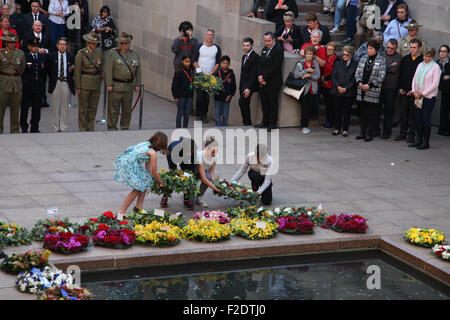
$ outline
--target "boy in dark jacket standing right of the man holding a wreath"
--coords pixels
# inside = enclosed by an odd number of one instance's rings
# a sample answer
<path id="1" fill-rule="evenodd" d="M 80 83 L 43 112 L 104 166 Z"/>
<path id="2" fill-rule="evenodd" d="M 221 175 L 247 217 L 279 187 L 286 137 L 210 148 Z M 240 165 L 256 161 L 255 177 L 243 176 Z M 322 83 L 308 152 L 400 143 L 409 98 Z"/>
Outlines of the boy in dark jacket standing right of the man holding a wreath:
<path id="1" fill-rule="evenodd" d="M 224 90 L 214 95 L 214 106 L 216 113 L 216 126 L 228 126 L 228 113 L 230 111 L 231 98 L 236 93 L 236 77 L 230 69 L 230 57 L 223 56 L 220 59 L 220 68 L 214 74 L 218 81 L 223 82 Z"/>

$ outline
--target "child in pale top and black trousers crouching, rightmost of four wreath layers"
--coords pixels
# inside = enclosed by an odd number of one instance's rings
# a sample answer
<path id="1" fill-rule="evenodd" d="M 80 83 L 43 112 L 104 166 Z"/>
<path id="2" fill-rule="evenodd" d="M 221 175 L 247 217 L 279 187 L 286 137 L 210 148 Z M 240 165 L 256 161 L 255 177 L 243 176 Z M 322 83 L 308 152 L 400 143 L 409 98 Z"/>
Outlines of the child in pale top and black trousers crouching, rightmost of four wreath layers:
<path id="1" fill-rule="evenodd" d="M 238 182 L 247 172 L 252 183 L 254 191 L 261 195 L 263 205 L 272 204 L 272 176 L 270 170 L 272 168 L 272 157 L 267 153 L 267 147 L 263 144 L 256 146 L 255 152 L 250 152 L 245 157 L 245 163 L 231 178 L 232 182 Z"/>

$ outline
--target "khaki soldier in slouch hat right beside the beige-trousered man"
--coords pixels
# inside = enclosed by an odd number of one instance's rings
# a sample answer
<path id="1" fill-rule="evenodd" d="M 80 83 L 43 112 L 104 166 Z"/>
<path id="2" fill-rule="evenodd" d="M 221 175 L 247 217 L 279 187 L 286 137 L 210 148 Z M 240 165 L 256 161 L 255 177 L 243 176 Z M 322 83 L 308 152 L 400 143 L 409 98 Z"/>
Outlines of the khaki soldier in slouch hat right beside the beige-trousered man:
<path id="1" fill-rule="evenodd" d="M 102 82 L 102 50 L 97 48 L 100 36 L 94 32 L 83 35 L 86 48 L 75 57 L 75 90 L 78 94 L 78 128 L 94 131 Z"/>

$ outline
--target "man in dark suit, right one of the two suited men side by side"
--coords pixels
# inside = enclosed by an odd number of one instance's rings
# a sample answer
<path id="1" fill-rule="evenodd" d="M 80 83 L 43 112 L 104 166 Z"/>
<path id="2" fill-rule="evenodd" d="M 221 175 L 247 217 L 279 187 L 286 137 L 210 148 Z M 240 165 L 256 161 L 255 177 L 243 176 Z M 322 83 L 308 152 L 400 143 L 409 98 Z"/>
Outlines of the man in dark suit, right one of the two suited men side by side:
<path id="1" fill-rule="evenodd" d="M 258 68 L 263 120 L 256 127 L 267 127 L 270 131 L 277 127 L 278 122 L 278 99 L 283 84 L 281 65 L 284 60 L 284 50 L 275 41 L 273 32 L 264 34 L 264 44 Z"/>

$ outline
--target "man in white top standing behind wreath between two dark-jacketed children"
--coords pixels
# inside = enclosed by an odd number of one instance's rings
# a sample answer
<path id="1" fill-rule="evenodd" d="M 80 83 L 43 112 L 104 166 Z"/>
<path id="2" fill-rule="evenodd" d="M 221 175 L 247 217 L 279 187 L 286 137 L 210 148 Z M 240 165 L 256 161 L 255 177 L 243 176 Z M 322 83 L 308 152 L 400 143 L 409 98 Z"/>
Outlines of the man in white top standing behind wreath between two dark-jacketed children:
<path id="1" fill-rule="evenodd" d="M 200 43 L 194 51 L 192 62 L 197 73 L 211 75 L 219 68 L 222 53 L 220 47 L 214 44 L 214 34 L 214 30 L 208 30 L 205 41 Z M 208 123 L 208 106 L 209 93 L 197 90 L 197 120 L 201 119 L 203 123 Z"/>

